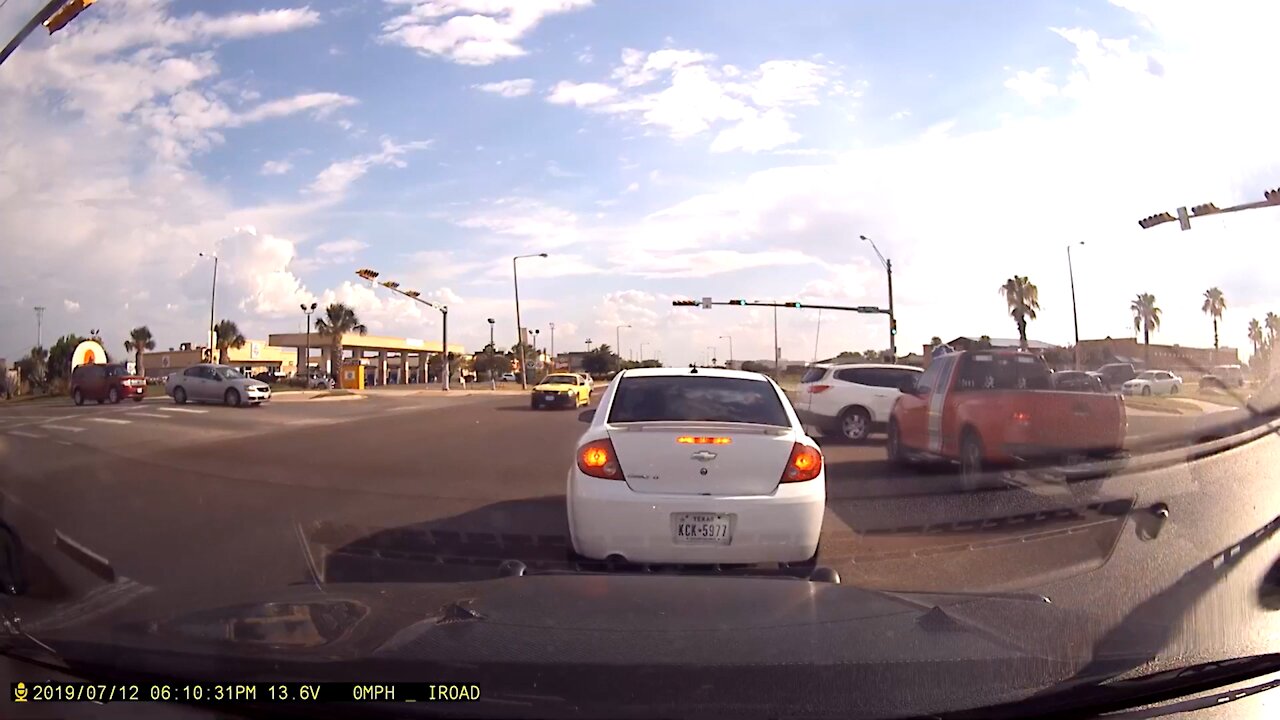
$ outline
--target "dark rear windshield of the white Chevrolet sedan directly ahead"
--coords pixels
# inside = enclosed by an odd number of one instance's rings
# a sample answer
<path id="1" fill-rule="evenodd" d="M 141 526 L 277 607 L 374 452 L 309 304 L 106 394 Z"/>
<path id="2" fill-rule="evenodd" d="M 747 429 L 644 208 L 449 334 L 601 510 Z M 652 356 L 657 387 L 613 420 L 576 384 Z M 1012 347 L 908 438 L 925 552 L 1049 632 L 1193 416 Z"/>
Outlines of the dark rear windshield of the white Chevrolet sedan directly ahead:
<path id="1" fill-rule="evenodd" d="M 658 375 L 622 378 L 609 423 L 709 420 L 790 427 L 773 386 L 748 378 Z"/>

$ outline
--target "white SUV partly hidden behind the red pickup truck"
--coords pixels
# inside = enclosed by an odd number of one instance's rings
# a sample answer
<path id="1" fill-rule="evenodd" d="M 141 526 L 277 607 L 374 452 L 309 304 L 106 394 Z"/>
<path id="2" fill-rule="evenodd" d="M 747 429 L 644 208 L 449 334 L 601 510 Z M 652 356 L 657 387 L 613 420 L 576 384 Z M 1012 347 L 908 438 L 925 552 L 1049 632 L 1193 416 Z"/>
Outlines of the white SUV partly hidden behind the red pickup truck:
<path id="1" fill-rule="evenodd" d="M 800 379 L 796 414 L 826 437 L 860 442 L 888 425 L 899 388 L 920 373 L 910 365 L 814 365 Z"/>

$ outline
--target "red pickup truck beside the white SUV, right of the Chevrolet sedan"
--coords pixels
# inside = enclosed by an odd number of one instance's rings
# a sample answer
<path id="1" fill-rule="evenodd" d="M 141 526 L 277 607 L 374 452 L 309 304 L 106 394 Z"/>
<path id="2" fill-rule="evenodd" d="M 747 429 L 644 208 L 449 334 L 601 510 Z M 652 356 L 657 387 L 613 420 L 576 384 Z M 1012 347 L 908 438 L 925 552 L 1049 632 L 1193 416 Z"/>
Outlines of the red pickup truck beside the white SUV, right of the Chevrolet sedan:
<path id="1" fill-rule="evenodd" d="M 1052 387 L 1044 361 L 1028 352 L 934 357 L 893 404 L 890 462 L 959 461 L 973 477 L 992 465 L 1120 451 L 1128 420 L 1119 395 Z"/>

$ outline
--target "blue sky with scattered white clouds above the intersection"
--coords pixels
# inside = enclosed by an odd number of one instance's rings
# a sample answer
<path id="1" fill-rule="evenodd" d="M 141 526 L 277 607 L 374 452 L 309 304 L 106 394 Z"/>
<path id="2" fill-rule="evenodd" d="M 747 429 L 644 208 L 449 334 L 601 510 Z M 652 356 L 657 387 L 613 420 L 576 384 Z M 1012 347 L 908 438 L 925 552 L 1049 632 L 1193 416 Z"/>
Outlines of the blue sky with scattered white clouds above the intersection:
<path id="1" fill-rule="evenodd" d="M 37 0 L 0 8 L 10 37 Z M 1280 209 L 1139 229 L 1280 186 L 1280 4 L 1192 0 L 99 0 L 0 65 L 0 356 L 297 332 L 300 304 L 449 341 L 767 359 L 772 311 L 887 305 L 901 352 L 1016 337 L 1222 343 L 1280 311 Z M 618 325 L 630 325 L 618 329 Z M 883 315 L 778 311 L 790 360 L 884 348 Z M 643 347 L 641 347 L 643 343 Z M 1245 351 L 1245 357 L 1248 351 Z"/>

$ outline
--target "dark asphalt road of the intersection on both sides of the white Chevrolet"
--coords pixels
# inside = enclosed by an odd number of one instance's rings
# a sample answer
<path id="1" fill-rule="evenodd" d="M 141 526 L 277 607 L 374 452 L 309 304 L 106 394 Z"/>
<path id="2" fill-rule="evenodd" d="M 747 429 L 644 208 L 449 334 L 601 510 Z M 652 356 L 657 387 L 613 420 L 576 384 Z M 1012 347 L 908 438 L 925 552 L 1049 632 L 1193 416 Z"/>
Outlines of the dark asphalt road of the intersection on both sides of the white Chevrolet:
<path id="1" fill-rule="evenodd" d="M 105 560 L 128 592 L 445 582 L 506 559 L 557 569 L 581 430 L 575 411 L 483 391 L 9 405 L 0 512 L 33 546 L 60 536 L 64 553 Z M 1116 503 L 1142 484 L 1020 473 L 964 492 L 948 468 L 892 470 L 876 438 L 824 451 L 819 562 L 881 588 L 1006 588 L 1096 568 L 1124 525 Z"/>

